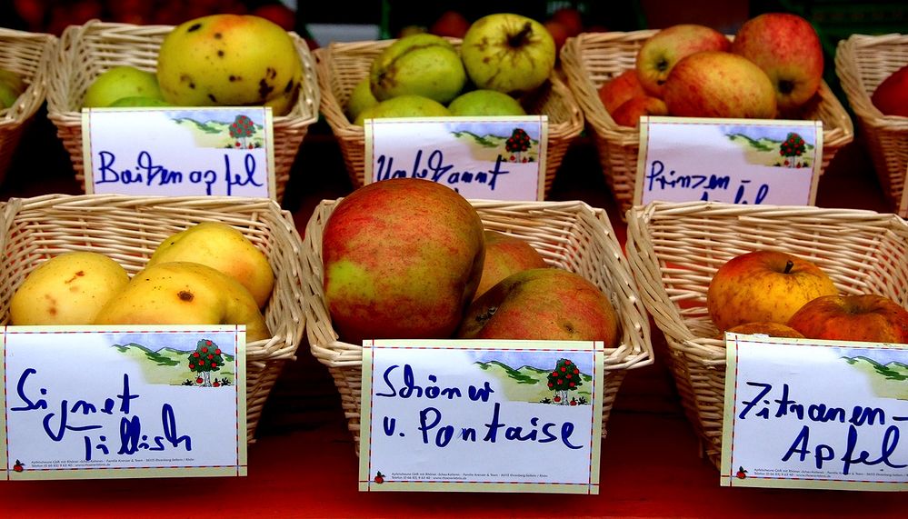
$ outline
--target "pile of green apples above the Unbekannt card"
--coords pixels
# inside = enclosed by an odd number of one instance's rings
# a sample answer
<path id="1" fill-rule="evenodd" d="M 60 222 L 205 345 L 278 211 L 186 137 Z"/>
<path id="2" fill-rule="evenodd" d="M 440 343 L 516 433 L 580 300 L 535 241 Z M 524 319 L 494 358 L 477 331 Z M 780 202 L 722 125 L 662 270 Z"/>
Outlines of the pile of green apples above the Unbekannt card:
<path id="1" fill-rule="evenodd" d="M 525 115 L 520 95 L 551 75 L 554 40 L 524 15 L 485 15 L 458 49 L 443 36 L 405 35 L 374 58 L 344 111 L 354 125 L 380 117 Z"/>

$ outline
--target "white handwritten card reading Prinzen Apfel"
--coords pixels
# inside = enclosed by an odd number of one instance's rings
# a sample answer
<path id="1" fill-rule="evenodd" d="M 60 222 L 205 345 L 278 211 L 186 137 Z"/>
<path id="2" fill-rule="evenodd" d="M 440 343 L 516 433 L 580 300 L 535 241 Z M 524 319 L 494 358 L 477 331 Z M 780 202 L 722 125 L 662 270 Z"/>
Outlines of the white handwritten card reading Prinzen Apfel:
<path id="1" fill-rule="evenodd" d="M 813 205 L 821 121 L 643 117 L 634 204 Z"/>

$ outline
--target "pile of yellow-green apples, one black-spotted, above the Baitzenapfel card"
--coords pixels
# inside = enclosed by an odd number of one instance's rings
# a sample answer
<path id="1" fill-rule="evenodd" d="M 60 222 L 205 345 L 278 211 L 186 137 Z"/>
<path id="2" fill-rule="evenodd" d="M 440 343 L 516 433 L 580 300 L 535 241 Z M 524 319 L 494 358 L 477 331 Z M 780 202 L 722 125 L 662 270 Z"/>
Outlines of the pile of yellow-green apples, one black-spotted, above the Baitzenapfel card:
<path id="1" fill-rule="evenodd" d="M 155 73 L 121 65 L 98 75 L 83 106 L 264 105 L 286 115 L 303 80 L 284 28 L 256 15 L 208 15 L 165 35 Z"/>

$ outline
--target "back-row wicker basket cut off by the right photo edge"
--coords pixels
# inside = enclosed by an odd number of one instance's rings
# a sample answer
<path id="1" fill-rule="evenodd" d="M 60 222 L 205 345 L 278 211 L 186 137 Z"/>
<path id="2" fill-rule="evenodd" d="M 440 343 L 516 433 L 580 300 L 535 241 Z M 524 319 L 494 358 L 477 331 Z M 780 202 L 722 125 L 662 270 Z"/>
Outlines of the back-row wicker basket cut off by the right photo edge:
<path id="1" fill-rule="evenodd" d="M 908 35 L 852 35 L 839 42 L 835 73 L 857 117 L 883 192 L 898 207 L 908 176 L 908 117 L 883 115 L 870 96 L 908 65 Z"/>

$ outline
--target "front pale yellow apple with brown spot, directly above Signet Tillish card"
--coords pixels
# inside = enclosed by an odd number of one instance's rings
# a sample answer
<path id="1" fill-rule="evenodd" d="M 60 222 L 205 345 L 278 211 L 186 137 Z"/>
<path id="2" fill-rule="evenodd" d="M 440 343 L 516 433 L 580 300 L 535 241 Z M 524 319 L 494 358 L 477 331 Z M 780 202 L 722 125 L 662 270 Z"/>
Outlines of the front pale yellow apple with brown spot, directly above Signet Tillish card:
<path id="1" fill-rule="evenodd" d="M 247 342 L 271 337 L 242 284 L 192 262 L 145 267 L 105 304 L 95 324 L 245 324 Z"/>

